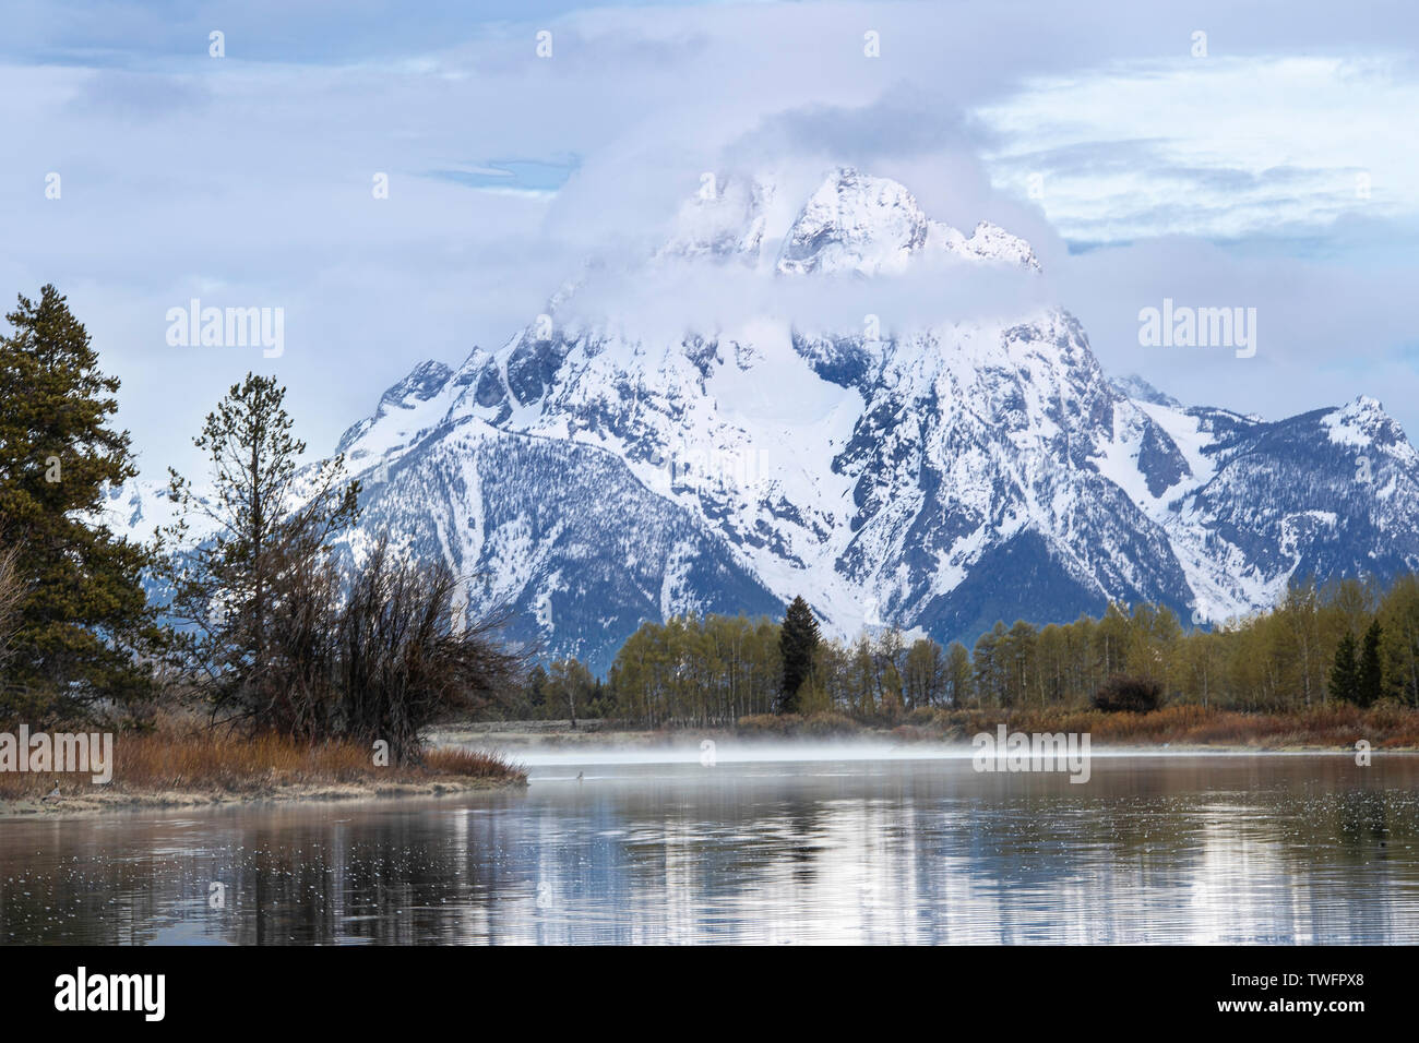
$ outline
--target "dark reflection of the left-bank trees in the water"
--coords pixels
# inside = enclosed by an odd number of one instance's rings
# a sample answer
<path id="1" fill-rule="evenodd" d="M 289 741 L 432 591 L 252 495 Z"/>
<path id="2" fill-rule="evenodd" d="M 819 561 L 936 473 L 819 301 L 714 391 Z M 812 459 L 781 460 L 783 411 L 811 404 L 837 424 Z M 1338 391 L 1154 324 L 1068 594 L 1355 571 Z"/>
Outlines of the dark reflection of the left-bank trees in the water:
<path id="1" fill-rule="evenodd" d="M 121 945 L 180 937 L 244 945 L 414 942 L 448 932 L 448 903 L 478 893 L 484 864 L 453 866 L 448 837 L 417 816 L 350 832 L 338 824 L 238 827 L 220 847 L 155 856 L 149 832 L 58 860 L 0 860 L 0 938 Z M 23 861 L 23 864 L 21 864 Z M 10 878 L 7 881 L 7 878 Z M 211 908 L 210 885 L 226 887 Z"/>

